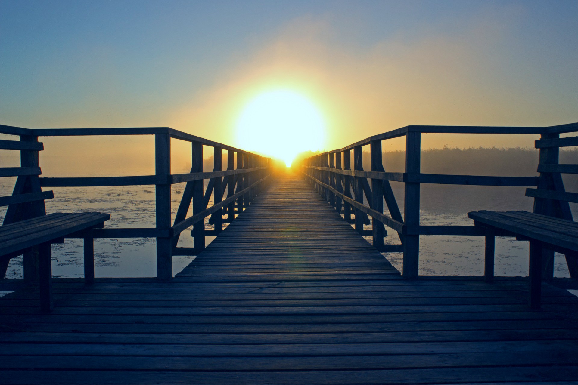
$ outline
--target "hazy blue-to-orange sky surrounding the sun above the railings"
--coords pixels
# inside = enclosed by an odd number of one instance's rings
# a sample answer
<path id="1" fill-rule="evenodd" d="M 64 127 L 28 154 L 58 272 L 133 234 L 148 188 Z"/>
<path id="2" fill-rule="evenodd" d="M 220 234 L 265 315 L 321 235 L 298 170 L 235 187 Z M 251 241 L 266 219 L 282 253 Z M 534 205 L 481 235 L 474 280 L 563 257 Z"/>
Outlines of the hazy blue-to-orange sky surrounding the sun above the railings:
<path id="1" fill-rule="evenodd" d="M 170 126 L 235 146 L 244 109 L 277 89 L 323 117 L 312 149 L 413 124 L 578 121 L 575 0 L 0 0 L 0 58 L 0 124 L 27 128 Z"/>

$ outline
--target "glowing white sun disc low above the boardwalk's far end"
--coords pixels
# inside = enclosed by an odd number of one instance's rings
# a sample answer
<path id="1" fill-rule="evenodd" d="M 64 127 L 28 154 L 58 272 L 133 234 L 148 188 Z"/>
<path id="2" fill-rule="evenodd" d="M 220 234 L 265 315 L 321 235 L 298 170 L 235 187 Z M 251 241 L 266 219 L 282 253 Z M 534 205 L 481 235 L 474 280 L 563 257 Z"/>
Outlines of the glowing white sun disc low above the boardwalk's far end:
<path id="1" fill-rule="evenodd" d="M 320 149 L 324 133 L 325 122 L 313 103 L 285 89 L 258 95 L 237 122 L 241 148 L 283 159 L 287 167 L 299 152 Z"/>

